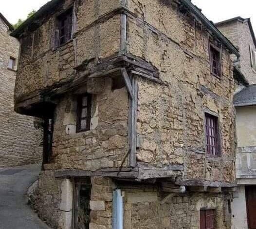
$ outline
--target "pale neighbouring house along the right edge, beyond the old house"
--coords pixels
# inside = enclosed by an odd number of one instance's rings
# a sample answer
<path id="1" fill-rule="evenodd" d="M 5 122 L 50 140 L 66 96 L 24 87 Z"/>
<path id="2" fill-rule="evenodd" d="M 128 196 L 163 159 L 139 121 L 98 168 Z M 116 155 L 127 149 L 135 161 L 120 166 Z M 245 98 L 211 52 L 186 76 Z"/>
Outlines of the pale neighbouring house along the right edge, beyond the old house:
<path id="1" fill-rule="evenodd" d="M 245 79 L 237 82 L 234 96 L 238 188 L 231 205 L 232 228 L 253 229 L 256 228 L 256 38 L 250 19 L 237 17 L 219 22 L 217 26 L 238 48 L 241 57 L 235 62 L 235 71 Z"/>

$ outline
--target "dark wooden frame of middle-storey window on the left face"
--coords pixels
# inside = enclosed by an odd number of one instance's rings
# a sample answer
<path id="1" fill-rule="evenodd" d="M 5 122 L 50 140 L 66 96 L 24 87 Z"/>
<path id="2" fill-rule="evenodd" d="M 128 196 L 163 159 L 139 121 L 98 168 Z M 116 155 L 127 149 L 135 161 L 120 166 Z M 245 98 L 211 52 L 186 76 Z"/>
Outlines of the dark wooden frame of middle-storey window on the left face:
<path id="1" fill-rule="evenodd" d="M 87 105 L 83 106 L 83 98 L 87 97 Z M 83 94 L 78 95 L 77 97 L 77 109 L 76 109 L 76 133 L 79 132 L 85 132 L 91 130 L 91 100 L 92 95 L 91 94 Z M 87 115 L 86 117 L 82 117 L 82 109 L 87 108 Z M 81 127 L 82 120 L 86 120 L 86 127 Z"/>

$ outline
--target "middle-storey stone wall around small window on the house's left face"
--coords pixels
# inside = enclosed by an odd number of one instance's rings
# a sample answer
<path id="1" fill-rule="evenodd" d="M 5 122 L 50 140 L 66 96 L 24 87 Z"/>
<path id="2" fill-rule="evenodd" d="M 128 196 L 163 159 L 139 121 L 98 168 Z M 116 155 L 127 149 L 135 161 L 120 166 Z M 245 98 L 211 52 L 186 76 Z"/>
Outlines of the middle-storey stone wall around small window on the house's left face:
<path id="1" fill-rule="evenodd" d="M 100 80 L 100 84 L 88 82 L 84 91 L 92 92 L 89 88 L 93 88 L 93 93 L 98 91 L 92 96 L 90 131 L 76 133 L 79 90 L 62 97 L 56 107 L 52 160 L 55 169 L 95 171 L 120 167 L 128 152 L 127 90 L 125 87 L 112 90 L 110 78 Z"/>

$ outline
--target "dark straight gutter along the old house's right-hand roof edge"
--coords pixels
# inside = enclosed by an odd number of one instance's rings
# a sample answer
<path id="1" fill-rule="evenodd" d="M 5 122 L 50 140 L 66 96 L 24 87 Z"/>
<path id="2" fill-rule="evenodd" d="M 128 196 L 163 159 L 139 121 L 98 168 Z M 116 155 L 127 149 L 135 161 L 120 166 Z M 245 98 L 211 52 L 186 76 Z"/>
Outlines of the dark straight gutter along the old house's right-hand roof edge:
<path id="1" fill-rule="evenodd" d="M 237 57 L 240 57 L 238 49 L 214 26 L 214 24 L 209 21 L 201 11 L 190 1 L 190 0 L 181 0 L 181 2 L 186 6 L 191 12 L 195 14 L 203 24 L 210 30 L 212 33 L 219 38 L 223 44 Z"/>

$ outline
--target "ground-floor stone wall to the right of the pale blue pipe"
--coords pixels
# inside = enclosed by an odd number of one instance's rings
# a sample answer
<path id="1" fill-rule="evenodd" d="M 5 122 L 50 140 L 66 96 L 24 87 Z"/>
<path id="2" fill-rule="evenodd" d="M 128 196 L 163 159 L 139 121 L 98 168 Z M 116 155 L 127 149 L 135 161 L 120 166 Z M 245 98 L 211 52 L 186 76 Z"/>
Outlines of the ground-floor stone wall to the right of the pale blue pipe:
<path id="1" fill-rule="evenodd" d="M 215 228 L 228 229 L 230 196 L 218 193 L 165 193 L 156 186 L 122 187 L 124 229 L 200 229 L 200 210 L 215 210 Z"/>

